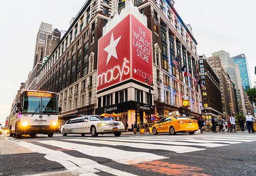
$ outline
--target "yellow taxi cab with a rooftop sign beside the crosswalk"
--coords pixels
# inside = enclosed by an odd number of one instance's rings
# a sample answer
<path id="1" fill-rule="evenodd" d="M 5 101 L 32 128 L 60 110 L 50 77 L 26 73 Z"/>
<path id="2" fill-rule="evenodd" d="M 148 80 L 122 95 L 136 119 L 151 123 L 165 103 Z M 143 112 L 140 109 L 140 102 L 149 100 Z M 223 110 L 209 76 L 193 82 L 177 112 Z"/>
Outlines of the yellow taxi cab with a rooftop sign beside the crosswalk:
<path id="1" fill-rule="evenodd" d="M 184 132 L 194 134 L 198 129 L 197 120 L 181 116 L 179 112 L 169 113 L 168 117 L 164 117 L 152 126 L 153 134 L 170 133 L 174 135 Z"/>

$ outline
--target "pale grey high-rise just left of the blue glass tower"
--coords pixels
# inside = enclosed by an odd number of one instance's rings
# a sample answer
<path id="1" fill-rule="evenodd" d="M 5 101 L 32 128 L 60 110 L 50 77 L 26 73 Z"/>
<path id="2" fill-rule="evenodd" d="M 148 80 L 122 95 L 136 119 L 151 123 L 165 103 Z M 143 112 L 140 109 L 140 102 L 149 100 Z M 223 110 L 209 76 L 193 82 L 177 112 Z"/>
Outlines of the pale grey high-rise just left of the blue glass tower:
<path id="1" fill-rule="evenodd" d="M 228 52 L 225 52 L 223 50 L 214 52 L 212 56 L 219 56 L 221 60 L 222 67 L 225 69 L 225 71 L 228 73 L 231 81 L 235 84 L 236 89 L 236 99 L 238 103 L 238 112 L 239 114 L 243 114 L 243 109 L 245 107 L 243 99 L 243 90 L 241 79 L 237 79 L 237 76 L 240 77 L 240 75 L 237 75 L 236 72 L 236 65 L 234 62 L 234 59 L 230 57 L 230 54 Z M 238 69 L 239 71 L 239 69 Z"/>

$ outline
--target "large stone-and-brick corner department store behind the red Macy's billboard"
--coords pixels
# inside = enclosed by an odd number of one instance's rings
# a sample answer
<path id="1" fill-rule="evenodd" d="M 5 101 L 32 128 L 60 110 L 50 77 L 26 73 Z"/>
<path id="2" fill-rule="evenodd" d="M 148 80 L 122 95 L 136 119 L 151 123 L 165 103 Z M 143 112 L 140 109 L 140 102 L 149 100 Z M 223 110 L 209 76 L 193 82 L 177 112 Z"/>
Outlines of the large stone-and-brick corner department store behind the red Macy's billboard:
<path id="1" fill-rule="evenodd" d="M 128 8 L 125 10 L 124 7 Z M 125 13 L 128 15 L 127 10 L 131 9 L 136 9 L 133 12 L 151 30 L 154 91 L 150 95 L 144 80 L 137 82 L 130 79 L 97 91 L 98 40 L 104 33 L 103 27 L 113 10 L 120 16 L 114 16 L 109 21 L 108 27 L 104 28 L 107 31 L 113 27 L 111 24 L 116 24 Z M 117 40 L 116 37 L 114 39 Z M 107 111 L 115 112 L 119 115 L 116 120 L 128 121 L 131 126 L 134 121 L 149 121 L 150 113 L 165 117 L 177 110 L 186 116 L 199 118 L 202 110 L 200 89 L 171 64 L 177 57 L 179 68 L 186 65 L 194 77 L 198 74 L 196 46 L 192 28 L 184 24 L 169 0 L 143 3 L 96 0 L 96 5 L 95 1 L 88 0 L 72 18 L 69 29 L 37 72 L 37 88 L 59 93 L 63 119 Z M 184 99 L 190 100 L 189 108 L 182 107 Z"/>

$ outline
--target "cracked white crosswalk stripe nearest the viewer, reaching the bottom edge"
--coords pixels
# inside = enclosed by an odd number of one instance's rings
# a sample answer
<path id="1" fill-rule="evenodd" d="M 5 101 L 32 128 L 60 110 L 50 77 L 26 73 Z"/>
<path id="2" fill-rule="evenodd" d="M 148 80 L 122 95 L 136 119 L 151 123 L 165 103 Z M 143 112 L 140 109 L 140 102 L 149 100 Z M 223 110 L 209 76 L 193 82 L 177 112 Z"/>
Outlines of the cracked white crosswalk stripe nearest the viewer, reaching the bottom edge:
<path id="1" fill-rule="evenodd" d="M 46 154 L 46 156 L 44 156 L 46 159 L 50 161 L 56 161 L 59 164 L 63 165 L 69 171 L 74 171 L 75 173 L 81 176 L 82 175 L 84 176 L 85 174 L 90 176 L 97 175 L 95 173 L 100 171 L 105 171 L 107 173 L 110 173 L 116 176 L 136 176 L 134 174 L 130 174 L 124 171 L 120 171 L 117 169 L 110 168 L 108 166 L 98 164 L 97 162 L 90 159 L 78 158 L 78 157 L 65 154 L 62 151 L 51 150 L 46 147 L 31 144 L 29 142 L 16 141 L 16 140 L 10 140 L 10 141 L 15 142 L 16 144 L 23 146 L 33 152 Z"/>

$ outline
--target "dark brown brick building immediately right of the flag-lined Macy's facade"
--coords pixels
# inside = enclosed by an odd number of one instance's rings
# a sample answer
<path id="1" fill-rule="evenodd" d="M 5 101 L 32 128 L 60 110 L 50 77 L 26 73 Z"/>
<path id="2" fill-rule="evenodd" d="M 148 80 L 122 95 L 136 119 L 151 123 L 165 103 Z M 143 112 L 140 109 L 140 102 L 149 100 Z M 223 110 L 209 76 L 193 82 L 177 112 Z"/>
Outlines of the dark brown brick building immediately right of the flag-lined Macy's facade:
<path id="1" fill-rule="evenodd" d="M 208 62 L 205 55 L 199 56 L 199 69 L 201 82 L 205 84 L 205 89 L 201 88 L 202 94 L 202 104 L 204 114 L 202 117 L 207 123 L 211 123 L 211 118 L 216 118 L 218 115 L 223 115 L 225 111 L 222 107 L 223 97 L 221 96 L 220 80 L 221 73 L 215 72 L 215 70 L 210 66 L 213 61 Z M 216 63 L 218 65 L 218 62 Z M 220 73 L 220 74 L 218 74 Z M 225 113 L 226 114 L 226 113 Z"/>

